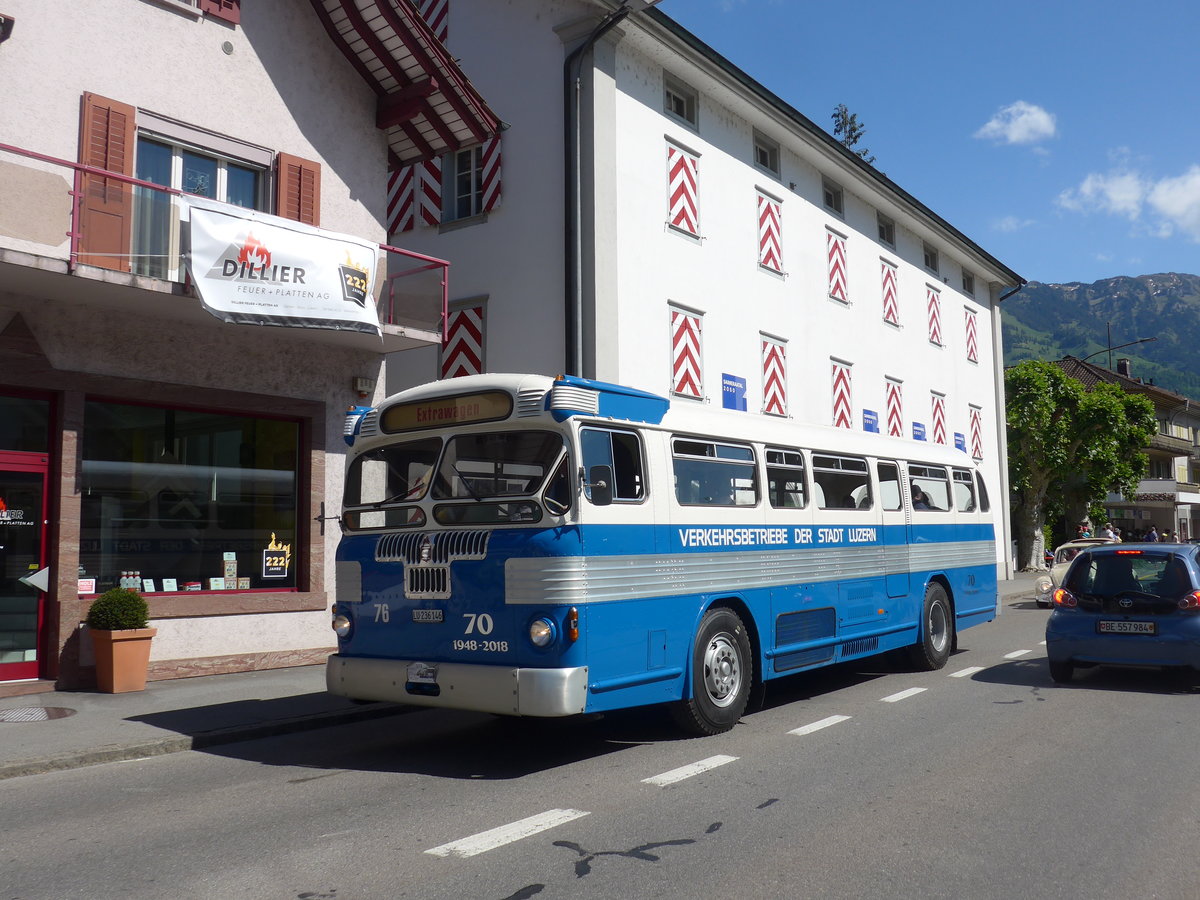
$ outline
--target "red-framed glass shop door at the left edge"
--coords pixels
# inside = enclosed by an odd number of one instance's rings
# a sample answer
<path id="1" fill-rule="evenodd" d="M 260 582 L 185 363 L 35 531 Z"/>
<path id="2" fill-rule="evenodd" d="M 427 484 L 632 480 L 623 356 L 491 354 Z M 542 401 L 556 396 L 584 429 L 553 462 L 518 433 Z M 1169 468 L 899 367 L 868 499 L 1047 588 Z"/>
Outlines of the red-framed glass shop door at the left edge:
<path id="1" fill-rule="evenodd" d="M 0 452 L 0 682 L 37 678 L 46 594 L 46 473 L 40 454 Z M 32 581 L 34 583 L 29 583 Z"/>

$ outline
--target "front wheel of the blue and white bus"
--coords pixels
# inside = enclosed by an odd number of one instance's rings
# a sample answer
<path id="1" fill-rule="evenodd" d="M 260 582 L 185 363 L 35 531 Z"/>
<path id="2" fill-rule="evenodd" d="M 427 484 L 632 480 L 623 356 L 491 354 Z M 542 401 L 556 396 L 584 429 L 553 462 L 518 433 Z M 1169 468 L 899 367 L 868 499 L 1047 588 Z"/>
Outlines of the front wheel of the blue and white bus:
<path id="1" fill-rule="evenodd" d="M 733 610 L 704 613 L 691 653 L 691 696 L 673 708 L 676 721 L 694 734 L 720 734 L 745 712 L 754 660 L 745 625 Z"/>

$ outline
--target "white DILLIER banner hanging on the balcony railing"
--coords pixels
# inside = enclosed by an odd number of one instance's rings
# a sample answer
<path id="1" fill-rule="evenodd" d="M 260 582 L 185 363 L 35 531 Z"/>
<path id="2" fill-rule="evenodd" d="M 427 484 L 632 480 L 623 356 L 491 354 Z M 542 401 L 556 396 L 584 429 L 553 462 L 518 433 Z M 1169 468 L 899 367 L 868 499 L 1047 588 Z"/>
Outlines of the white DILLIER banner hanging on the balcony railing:
<path id="1" fill-rule="evenodd" d="M 180 198 L 187 270 L 224 322 L 379 335 L 378 246 L 265 212 Z"/>

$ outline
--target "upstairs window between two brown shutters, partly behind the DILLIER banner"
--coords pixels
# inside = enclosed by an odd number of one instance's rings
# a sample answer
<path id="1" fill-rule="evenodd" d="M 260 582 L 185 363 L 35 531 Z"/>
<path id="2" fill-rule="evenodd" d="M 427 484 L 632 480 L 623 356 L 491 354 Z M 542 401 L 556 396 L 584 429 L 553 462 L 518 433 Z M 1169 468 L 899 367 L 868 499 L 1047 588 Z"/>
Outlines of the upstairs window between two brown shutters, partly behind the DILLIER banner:
<path id="1" fill-rule="evenodd" d="M 134 175 L 196 197 L 268 211 L 264 167 L 157 136 L 138 136 Z M 179 224 L 172 196 L 134 187 L 133 197 L 133 271 L 176 281 Z"/>

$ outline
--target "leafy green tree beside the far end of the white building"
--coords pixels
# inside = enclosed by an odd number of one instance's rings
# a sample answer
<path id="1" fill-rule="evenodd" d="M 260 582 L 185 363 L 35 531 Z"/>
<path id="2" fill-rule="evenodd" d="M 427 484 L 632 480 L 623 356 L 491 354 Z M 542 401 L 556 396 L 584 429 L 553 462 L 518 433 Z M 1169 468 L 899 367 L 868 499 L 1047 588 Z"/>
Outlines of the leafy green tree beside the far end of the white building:
<path id="1" fill-rule="evenodd" d="M 1146 397 L 1115 384 L 1088 391 L 1050 362 L 1013 366 L 1004 392 L 1015 562 L 1028 570 L 1038 568 L 1034 538 L 1048 521 L 1079 522 L 1106 493 L 1133 494 L 1158 425 Z"/>

